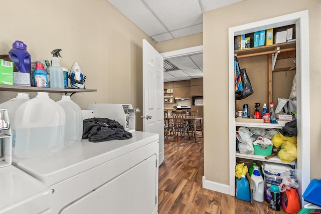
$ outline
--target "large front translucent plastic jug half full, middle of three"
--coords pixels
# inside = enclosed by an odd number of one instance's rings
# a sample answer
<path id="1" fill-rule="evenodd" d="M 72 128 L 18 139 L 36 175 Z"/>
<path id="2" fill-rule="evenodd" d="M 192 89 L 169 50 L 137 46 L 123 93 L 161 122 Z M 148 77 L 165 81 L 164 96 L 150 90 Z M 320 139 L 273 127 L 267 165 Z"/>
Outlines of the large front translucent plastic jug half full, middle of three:
<path id="1" fill-rule="evenodd" d="M 64 146 L 66 115 L 64 109 L 38 92 L 16 111 L 13 151 L 17 158 L 33 158 L 58 151 Z"/>

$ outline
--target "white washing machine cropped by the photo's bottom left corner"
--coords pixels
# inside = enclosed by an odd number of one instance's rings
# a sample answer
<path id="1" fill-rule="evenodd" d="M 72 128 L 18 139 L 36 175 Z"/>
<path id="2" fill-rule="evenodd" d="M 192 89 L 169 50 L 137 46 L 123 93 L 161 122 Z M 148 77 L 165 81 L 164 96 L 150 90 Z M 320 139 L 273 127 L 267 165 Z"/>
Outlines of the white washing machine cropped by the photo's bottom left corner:
<path id="1" fill-rule="evenodd" d="M 0 213 L 52 213 L 53 194 L 44 183 L 13 165 L 0 168 Z"/>

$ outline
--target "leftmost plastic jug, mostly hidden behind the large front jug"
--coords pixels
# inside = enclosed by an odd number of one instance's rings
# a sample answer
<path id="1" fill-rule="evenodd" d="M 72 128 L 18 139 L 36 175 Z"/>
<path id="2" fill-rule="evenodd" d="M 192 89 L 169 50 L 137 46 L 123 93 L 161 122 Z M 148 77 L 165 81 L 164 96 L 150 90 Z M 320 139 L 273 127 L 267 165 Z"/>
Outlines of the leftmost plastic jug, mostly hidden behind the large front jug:
<path id="1" fill-rule="evenodd" d="M 18 93 L 17 97 L 8 100 L 7 102 L 4 102 L 0 104 L 0 108 L 7 109 L 8 110 L 8 116 L 10 120 L 10 126 L 12 129 L 14 128 L 15 124 L 15 113 L 18 107 L 23 104 L 24 102 L 30 100 L 29 94 L 26 93 Z"/>

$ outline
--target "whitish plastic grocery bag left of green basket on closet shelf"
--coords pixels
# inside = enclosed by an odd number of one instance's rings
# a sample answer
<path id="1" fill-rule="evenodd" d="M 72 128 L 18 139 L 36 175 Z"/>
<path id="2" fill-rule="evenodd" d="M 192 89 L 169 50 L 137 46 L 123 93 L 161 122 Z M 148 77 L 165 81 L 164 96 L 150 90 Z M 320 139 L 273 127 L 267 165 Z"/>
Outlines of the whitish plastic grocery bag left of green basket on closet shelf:
<path id="1" fill-rule="evenodd" d="M 238 148 L 241 154 L 254 154 L 253 141 L 249 129 L 241 127 L 236 131 L 236 138 L 238 140 Z"/>

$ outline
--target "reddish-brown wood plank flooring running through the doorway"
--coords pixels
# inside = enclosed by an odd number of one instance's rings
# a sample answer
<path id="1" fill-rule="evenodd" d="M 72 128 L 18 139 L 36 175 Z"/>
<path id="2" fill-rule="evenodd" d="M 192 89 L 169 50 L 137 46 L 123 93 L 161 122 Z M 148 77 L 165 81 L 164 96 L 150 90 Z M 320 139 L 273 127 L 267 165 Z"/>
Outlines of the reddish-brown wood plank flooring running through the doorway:
<path id="1" fill-rule="evenodd" d="M 269 208 L 269 204 L 239 200 L 228 194 L 202 188 L 203 138 L 165 139 L 165 160 L 159 166 L 158 213 L 198 214 L 283 214 Z"/>

